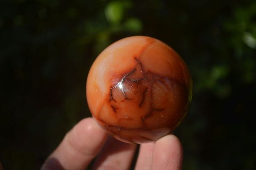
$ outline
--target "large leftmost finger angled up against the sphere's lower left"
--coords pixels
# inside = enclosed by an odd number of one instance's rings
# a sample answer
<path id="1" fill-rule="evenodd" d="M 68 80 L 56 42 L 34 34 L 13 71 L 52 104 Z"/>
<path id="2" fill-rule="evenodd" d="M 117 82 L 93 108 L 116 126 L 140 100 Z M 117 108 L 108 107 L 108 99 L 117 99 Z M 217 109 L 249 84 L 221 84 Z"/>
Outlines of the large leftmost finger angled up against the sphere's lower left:
<path id="1" fill-rule="evenodd" d="M 96 121 L 85 118 L 67 133 L 44 163 L 42 170 L 56 167 L 65 170 L 85 169 L 99 153 L 106 139 L 107 134 Z"/>

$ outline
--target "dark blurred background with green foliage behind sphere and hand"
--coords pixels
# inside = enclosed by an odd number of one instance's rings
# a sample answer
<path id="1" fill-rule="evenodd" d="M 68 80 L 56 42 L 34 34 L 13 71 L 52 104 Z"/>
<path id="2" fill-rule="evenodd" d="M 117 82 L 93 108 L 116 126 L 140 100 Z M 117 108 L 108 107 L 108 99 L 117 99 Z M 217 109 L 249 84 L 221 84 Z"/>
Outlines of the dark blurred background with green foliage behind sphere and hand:
<path id="1" fill-rule="evenodd" d="M 175 134 L 184 170 L 256 169 L 255 0 L 0 1 L 0 161 L 39 169 L 90 116 L 86 78 L 123 37 L 172 46 L 194 81 Z"/>

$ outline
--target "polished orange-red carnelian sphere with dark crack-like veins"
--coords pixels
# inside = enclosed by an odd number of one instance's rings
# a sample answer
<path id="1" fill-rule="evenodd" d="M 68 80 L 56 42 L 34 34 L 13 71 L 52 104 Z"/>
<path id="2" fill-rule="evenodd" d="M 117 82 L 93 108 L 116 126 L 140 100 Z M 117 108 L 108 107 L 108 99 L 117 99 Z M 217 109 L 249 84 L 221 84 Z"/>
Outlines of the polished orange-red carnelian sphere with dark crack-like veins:
<path id="1" fill-rule="evenodd" d="M 87 78 L 93 118 L 128 143 L 156 141 L 188 112 L 192 78 L 186 63 L 160 40 L 134 36 L 108 46 Z"/>

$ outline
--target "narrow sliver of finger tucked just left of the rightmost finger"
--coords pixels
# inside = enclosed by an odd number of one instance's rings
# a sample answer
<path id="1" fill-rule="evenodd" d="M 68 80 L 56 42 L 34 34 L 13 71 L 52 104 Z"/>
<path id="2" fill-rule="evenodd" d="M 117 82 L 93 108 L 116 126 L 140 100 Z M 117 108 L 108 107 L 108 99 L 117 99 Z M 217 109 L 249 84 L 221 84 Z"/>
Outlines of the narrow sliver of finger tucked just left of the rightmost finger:
<path id="1" fill-rule="evenodd" d="M 151 170 L 152 153 L 155 142 L 140 145 L 135 170 Z"/>

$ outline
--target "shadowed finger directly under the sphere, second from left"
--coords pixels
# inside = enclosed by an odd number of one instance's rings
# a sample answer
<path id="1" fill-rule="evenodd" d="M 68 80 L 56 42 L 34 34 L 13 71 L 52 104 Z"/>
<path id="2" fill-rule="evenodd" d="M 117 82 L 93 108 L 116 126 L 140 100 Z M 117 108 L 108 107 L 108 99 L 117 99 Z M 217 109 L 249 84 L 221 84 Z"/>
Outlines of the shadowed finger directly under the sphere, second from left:
<path id="1" fill-rule="evenodd" d="M 128 170 L 136 144 L 127 144 L 109 136 L 95 161 L 93 170 Z"/>

